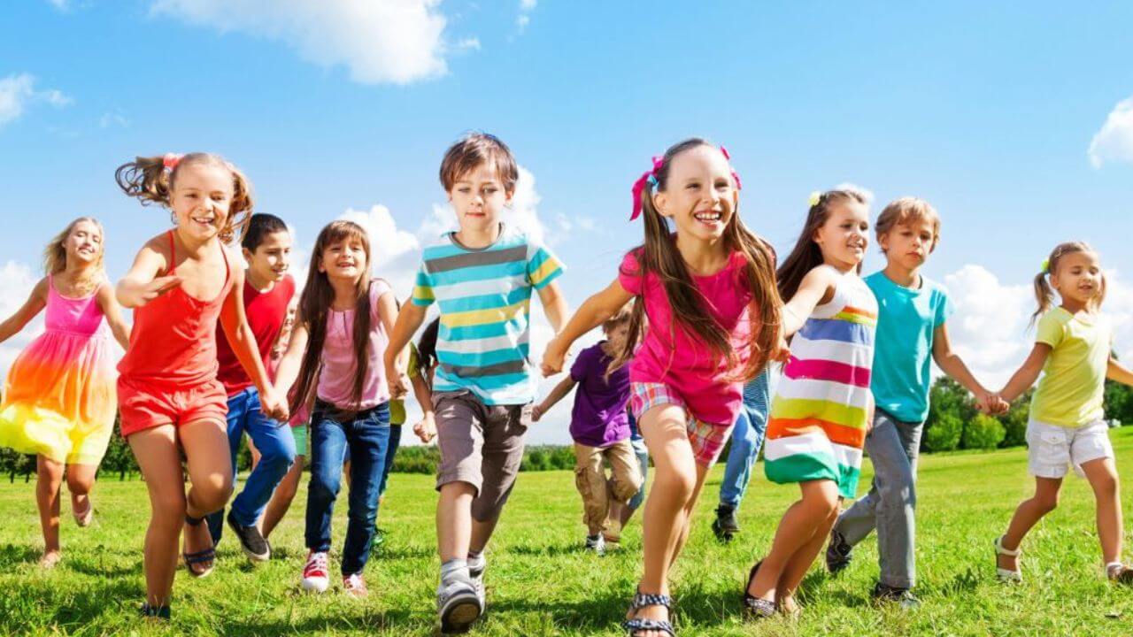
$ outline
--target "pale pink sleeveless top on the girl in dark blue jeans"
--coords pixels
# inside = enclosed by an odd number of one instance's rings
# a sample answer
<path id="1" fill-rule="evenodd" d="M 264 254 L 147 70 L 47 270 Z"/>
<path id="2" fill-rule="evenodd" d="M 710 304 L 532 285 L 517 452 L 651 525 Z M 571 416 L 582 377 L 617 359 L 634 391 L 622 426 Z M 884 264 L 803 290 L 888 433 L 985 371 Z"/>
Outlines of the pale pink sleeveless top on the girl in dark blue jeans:
<path id="1" fill-rule="evenodd" d="M 392 294 L 390 284 L 374 279 L 369 284 L 369 364 L 366 382 L 363 383 L 361 400 L 352 405 L 350 393 L 357 370 L 353 355 L 353 309 L 326 313 L 326 339 L 323 342 L 323 368 L 318 375 L 318 398 L 340 409 L 361 410 L 377 407 L 390 400 L 390 388 L 385 382 L 385 347 L 390 337 L 382 326 L 377 313 L 377 299 Z"/>

